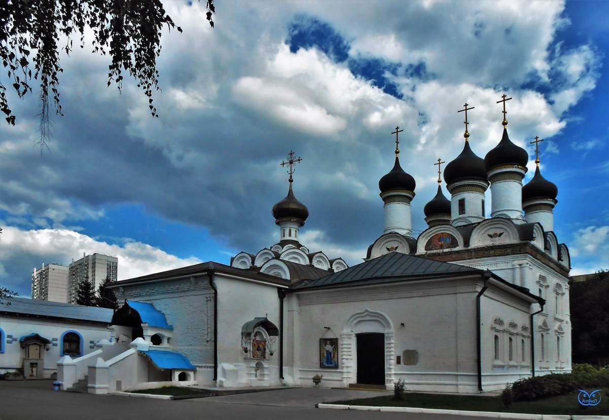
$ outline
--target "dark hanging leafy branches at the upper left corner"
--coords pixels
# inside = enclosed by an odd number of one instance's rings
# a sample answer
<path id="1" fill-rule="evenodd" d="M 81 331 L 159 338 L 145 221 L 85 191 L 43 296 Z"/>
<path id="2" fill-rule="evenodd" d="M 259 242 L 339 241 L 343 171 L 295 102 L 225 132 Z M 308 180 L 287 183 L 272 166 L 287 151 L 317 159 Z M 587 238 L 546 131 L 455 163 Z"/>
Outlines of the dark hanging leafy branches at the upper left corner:
<path id="1" fill-rule="evenodd" d="M 63 69 L 59 52 L 72 51 L 72 36 L 93 30 L 93 52 L 108 54 L 108 86 L 121 90 L 123 74 L 136 79 L 148 97 L 150 113 L 157 115 L 152 93 L 158 90 L 157 57 L 161 52 L 164 26 L 176 28 L 160 0 L 5 0 L 0 2 L 0 59 L 5 68 L 0 81 L 0 110 L 9 124 L 15 115 L 9 107 L 7 87 L 19 97 L 32 92 L 33 80 L 40 82 L 41 132 L 43 146 L 49 136 L 49 98 L 62 115 L 59 74 Z M 214 26 L 214 0 L 206 0 L 207 20 Z M 65 42 L 65 44 L 63 44 Z M 8 83 L 6 83 L 6 81 Z"/>

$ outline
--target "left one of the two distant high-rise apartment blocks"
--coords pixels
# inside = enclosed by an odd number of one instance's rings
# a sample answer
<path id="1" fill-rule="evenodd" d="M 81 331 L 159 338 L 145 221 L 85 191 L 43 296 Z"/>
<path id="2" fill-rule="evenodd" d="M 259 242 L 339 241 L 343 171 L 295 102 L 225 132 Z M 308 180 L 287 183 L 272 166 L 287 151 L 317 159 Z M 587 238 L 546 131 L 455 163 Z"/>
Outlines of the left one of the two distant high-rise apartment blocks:
<path id="1" fill-rule="evenodd" d="M 32 299 L 52 302 L 68 302 L 68 266 L 44 264 L 34 268 L 32 274 Z"/>

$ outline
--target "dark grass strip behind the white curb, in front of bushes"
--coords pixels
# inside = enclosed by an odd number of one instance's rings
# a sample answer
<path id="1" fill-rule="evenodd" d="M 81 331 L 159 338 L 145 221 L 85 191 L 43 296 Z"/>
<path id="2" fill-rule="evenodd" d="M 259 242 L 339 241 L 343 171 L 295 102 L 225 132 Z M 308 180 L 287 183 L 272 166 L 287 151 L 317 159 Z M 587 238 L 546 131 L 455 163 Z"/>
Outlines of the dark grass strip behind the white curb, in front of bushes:
<path id="1" fill-rule="evenodd" d="M 469 395 L 405 393 L 403 400 L 393 396 L 381 396 L 345 401 L 332 404 L 371 405 L 373 407 L 418 407 L 442 408 L 444 410 L 498 411 L 501 413 L 529 413 L 554 415 L 609 415 L 609 398 L 602 391 L 600 404 L 596 407 L 582 407 L 577 402 L 579 392 L 549 397 L 534 401 L 518 401 L 511 408 L 505 408 L 501 397 Z"/>

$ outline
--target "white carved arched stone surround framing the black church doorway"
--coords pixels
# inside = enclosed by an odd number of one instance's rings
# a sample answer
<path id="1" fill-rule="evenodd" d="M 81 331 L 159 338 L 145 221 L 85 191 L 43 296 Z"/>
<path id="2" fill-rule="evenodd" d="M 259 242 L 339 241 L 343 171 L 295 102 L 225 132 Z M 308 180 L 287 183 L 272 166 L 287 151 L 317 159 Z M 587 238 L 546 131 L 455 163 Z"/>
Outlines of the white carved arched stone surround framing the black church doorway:
<path id="1" fill-rule="evenodd" d="M 385 335 L 385 385 L 389 389 L 393 386 L 395 372 L 395 343 L 394 330 L 391 319 L 381 311 L 365 308 L 354 313 L 347 319 L 340 333 L 340 354 L 343 363 L 343 386 L 347 387 L 357 377 L 356 360 L 356 334 L 357 333 L 383 333 Z"/>

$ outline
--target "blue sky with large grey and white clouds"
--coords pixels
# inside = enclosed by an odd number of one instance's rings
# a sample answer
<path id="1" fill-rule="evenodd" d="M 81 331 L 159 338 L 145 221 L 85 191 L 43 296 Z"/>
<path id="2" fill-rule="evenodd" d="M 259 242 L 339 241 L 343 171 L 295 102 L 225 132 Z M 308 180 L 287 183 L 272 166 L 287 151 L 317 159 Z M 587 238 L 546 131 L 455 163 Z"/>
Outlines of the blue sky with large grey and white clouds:
<path id="1" fill-rule="evenodd" d="M 462 149 L 462 114 L 481 157 L 510 138 L 558 187 L 555 233 L 572 274 L 609 268 L 609 4 L 577 2 L 167 2 L 152 119 L 107 57 L 62 61 L 63 112 L 40 155 L 37 101 L 11 98 L 0 125 L 0 285 L 30 295 L 42 263 L 119 257 L 119 278 L 257 252 L 287 191 L 279 165 L 303 158 L 294 190 L 311 216 L 300 240 L 354 264 L 382 233 L 378 180 L 401 162 L 417 180 L 415 233 L 435 195 L 437 158 Z M 525 181 L 533 171 L 529 170 Z M 488 198 L 487 198 L 488 199 Z M 490 207 L 490 206 L 489 206 Z"/>

